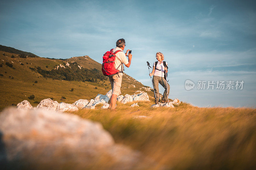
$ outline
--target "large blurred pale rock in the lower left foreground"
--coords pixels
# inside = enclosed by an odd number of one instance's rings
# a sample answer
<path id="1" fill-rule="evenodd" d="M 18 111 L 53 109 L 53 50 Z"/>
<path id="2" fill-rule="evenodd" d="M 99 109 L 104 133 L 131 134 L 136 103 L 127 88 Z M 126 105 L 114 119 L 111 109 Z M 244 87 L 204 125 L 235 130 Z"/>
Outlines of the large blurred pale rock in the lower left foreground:
<path id="1" fill-rule="evenodd" d="M 19 169 L 148 169 L 153 165 L 140 152 L 115 144 L 101 124 L 77 115 L 9 108 L 0 114 L 0 134 L 0 162 L 7 169 L 13 163 Z"/>

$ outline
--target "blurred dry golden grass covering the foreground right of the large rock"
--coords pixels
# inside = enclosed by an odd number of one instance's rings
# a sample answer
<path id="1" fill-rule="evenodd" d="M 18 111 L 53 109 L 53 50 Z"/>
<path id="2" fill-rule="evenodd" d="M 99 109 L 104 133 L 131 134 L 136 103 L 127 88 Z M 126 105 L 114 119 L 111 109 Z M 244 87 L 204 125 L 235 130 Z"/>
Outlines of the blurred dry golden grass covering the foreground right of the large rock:
<path id="1" fill-rule="evenodd" d="M 140 102 L 131 108 L 131 103 L 118 103 L 116 111 L 84 109 L 73 114 L 100 122 L 117 143 L 140 150 L 167 169 L 256 167 L 256 109 L 188 103 L 149 108 L 152 104 Z"/>

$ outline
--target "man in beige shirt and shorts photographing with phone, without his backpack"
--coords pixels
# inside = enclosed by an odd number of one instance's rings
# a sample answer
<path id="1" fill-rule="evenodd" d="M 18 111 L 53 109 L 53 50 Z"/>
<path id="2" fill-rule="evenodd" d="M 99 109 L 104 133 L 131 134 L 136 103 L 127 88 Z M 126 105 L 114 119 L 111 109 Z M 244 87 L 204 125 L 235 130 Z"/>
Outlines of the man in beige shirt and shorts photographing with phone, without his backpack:
<path id="1" fill-rule="evenodd" d="M 132 54 L 128 55 L 128 60 L 127 60 L 126 55 L 129 52 L 129 49 L 126 50 L 126 53 L 124 54 L 125 46 L 126 46 L 125 41 L 122 38 L 122 39 L 119 39 L 116 41 L 116 48 L 113 49 L 113 52 L 115 52 L 117 50 L 121 50 L 116 53 L 116 59 L 115 59 L 114 66 L 115 66 L 115 69 L 117 69 L 117 70 L 123 71 L 124 70 L 123 64 L 126 67 L 130 67 L 130 65 L 131 65 Z M 114 110 L 116 108 L 116 98 L 118 95 L 121 94 L 122 77 L 123 77 L 122 72 L 114 75 L 113 77 L 108 77 L 110 84 L 111 84 L 111 88 L 112 88 L 112 96 L 110 97 L 110 104 L 109 104 L 109 108 L 111 110 Z"/>

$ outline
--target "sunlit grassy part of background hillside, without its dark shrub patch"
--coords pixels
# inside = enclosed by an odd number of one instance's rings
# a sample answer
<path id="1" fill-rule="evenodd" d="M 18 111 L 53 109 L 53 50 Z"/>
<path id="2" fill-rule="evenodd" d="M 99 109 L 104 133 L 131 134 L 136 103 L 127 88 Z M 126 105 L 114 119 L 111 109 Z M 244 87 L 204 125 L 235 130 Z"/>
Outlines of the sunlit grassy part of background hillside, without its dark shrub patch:
<path id="1" fill-rule="evenodd" d="M 6 56 L 4 56 L 3 53 Z M 106 94 L 111 89 L 108 80 L 105 82 L 100 81 L 98 83 L 52 80 L 44 78 L 39 73 L 29 69 L 29 67 L 40 66 L 42 69 L 52 70 L 56 67 L 55 65 L 63 65 L 66 61 L 57 59 L 51 60 L 43 57 L 11 58 L 12 55 L 18 56 L 0 51 L 0 63 L 3 64 L 3 67 L 0 68 L 0 74 L 4 75 L 0 76 L 0 110 L 4 107 L 11 106 L 12 104 L 17 105 L 23 100 L 28 100 L 33 107 L 37 106 L 37 104 L 34 103 L 35 101 L 40 102 L 46 98 L 53 98 L 58 102 L 73 103 L 79 99 L 94 99 L 98 93 Z M 90 57 L 88 57 L 88 59 L 85 59 L 84 57 L 72 57 L 68 59 L 68 62 L 71 61 L 76 61 L 85 68 L 101 69 L 101 64 L 92 60 Z M 6 66 L 6 62 L 13 62 L 12 65 L 15 69 Z M 24 65 L 21 65 L 20 63 L 23 63 Z M 48 68 L 46 68 L 46 66 L 48 66 Z M 11 78 L 9 76 L 11 76 Z M 38 83 L 34 83 L 35 81 Z M 132 85 L 135 85 L 136 88 L 132 87 Z M 140 82 L 137 82 L 132 77 L 124 74 L 122 84 L 123 94 L 133 94 L 142 86 L 143 85 Z M 97 89 L 95 89 L 95 87 L 97 87 Z M 71 88 L 74 88 L 73 92 L 70 91 Z M 28 97 L 32 94 L 35 95 L 35 99 L 29 100 Z M 153 92 L 149 92 L 148 94 L 151 95 L 151 98 L 154 95 Z M 62 96 L 64 96 L 66 100 L 61 100 Z"/>

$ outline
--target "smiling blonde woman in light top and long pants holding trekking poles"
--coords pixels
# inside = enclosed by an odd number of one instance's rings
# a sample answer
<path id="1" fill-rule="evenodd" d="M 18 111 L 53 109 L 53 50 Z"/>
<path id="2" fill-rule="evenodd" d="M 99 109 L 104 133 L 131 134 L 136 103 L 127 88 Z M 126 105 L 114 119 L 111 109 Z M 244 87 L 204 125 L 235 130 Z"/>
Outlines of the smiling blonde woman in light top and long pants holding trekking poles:
<path id="1" fill-rule="evenodd" d="M 170 85 L 166 82 L 166 80 L 164 79 L 164 71 L 166 71 L 166 73 L 168 72 L 167 68 L 164 67 L 164 55 L 161 52 L 157 52 L 156 53 L 156 60 L 157 62 L 155 62 L 153 64 L 153 70 L 152 73 L 149 74 L 149 76 L 153 76 L 153 85 L 154 85 L 154 90 L 156 93 L 156 98 L 155 98 L 155 102 L 156 104 L 158 104 L 159 101 L 159 88 L 158 88 L 158 83 L 160 83 L 160 85 L 162 85 L 164 87 L 164 94 L 162 97 L 162 103 L 165 103 L 168 101 L 168 96 L 167 96 L 167 89 L 168 89 L 168 94 L 170 92 Z M 167 66 L 167 63 L 166 63 Z M 168 86 L 168 88 L 167 88 Z"/>

